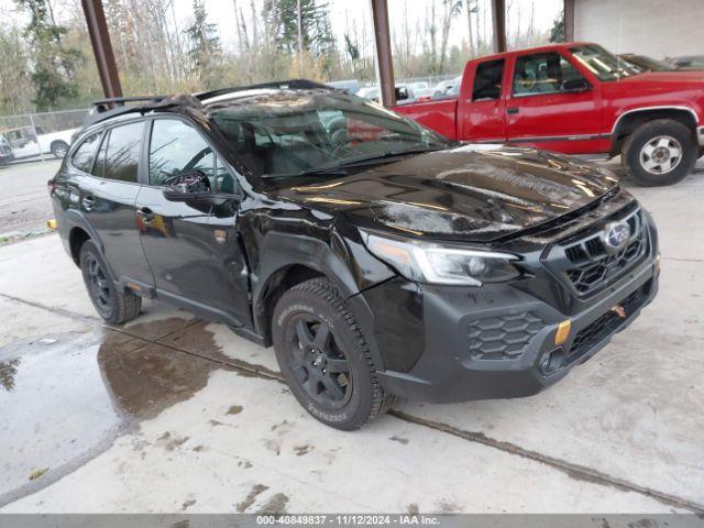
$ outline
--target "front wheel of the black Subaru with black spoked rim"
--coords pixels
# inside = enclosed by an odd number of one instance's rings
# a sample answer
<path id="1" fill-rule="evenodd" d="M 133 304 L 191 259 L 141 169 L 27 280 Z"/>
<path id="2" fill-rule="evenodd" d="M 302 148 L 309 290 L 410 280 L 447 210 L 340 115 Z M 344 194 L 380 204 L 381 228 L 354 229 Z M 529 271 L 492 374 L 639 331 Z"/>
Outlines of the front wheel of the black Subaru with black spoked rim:
<path id="1" fill-rule="evenodd" d="M 274 309 L 272 334 L 292 393 L 317 420 L 349 431 L 392 406 L 354 315 L 328 279 L 286 292 Z"/>

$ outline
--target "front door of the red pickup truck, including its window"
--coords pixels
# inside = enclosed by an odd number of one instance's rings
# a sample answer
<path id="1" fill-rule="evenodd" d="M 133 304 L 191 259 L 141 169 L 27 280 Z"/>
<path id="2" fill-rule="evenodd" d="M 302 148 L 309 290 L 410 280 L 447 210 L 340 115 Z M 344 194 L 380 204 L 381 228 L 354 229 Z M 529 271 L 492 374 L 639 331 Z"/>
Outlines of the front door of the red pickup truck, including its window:
<path id="1" fill-rule="evenodd" d="M 568 154 L 602 152 L 601 125 L 598 87 L 569 57 L 557 52 L 515 57 L 506 101 L 508 143 Z"/>

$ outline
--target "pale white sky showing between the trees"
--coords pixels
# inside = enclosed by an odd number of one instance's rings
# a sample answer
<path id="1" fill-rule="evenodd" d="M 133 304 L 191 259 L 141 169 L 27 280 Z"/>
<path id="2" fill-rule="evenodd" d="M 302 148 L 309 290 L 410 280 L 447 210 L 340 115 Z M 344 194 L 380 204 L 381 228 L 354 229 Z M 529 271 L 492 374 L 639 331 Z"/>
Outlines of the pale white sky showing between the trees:
<path id="1" fill-rule="evenodd" d="M 174 2 L 173 13 L 169 7 L 169 13 L 176 18 L 176 22 L 180 29 L 188 24 L 188 20 L 193 15 L 193 0 L 170 0 Z M 436 0 L 438 7 L 441 6 L 441 0 Z M 482 19 L 486 16 L 486 24 L 491 28 L 491 8 L 490 0 L 476 0 L 480 6 L 480 12 L 484 13 Z M 257 6 L 261 6 L 263 0 L 254 0 Z M 67 12 L 69 7 L 73 9 L 74 2 L 67 2 L 65 0 L 51 0 L 52 7 L 56 16 L 61 20 Z M 250 0 L 238 0 L 238 3 L 246 13 L 249 9 Z M 345 30 L 351 24 L 355 24 L 358 31 L 365 29 L 367 38 L 372 41 L 372 10 L 370 0 L 327 0 L 330 6 L 330 14 L 332 22 L 332 30 L 339 40 L 342 38 Z M 392 37 L 397 32 L 400 32 L 400 24 L 403 16 L 400 13 L 404 11 L 408 15 L 408 25 L 415 28 L 419 22 L 421 25 L 425 21 L 426 12 L 428 11 L 432 0 L 388 0 L 389 19 L 392 25 Z M 234 48 L 237 46 L 237 29 L 233 23 L 234 19 L 234 0 L 205 0 L 206 10 L 210 22 L 218 25 L 218 30 L 221 35 L 222 43 L 226 47 Z M 520 24 L 527 23 L 527 14 L 530 13 L 531 6 L 535 10 L 535 28 L 536 32 L 544 32 L 552 26 L 552 22 L 560 13 L 563 0 L 507 0 L 508 7 L 507 15 L 507 29 L 508 32 L 515 33 Z M 518 13 L 521 13 L 520 20 Z M 396 16 L 394 14 L 397 14 Z M 0 20 L 7 21 L 15 20 L 19 23 L 24 23 L 22 16 L 18 14 L 14 8 L 14 0 L 0 0 Z M 169 20 L 172 23 L 172 20 Z M 484 24 L 483 20 L 480 24 Z M 454 20 L 452 30 L 450 32 L 450 45 L 460 45 L 463 40 L 468 37 L 466 15 L 463 11 Z"/>

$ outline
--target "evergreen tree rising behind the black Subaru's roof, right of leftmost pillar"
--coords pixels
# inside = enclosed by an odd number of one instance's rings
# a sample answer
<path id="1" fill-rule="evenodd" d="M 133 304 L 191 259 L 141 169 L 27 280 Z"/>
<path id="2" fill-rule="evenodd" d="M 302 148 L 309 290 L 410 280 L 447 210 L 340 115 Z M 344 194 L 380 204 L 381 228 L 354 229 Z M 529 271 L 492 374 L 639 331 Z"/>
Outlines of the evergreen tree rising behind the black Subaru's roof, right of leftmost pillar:
<path id="1" fill-rule="evenodd" d="M 208 22 L 202 0 L 194 0 L 194 19 L 185 33 L 191 73 L 205 88 L 212 88 L 221 62 L 220 37 L 216 24 Z"/>

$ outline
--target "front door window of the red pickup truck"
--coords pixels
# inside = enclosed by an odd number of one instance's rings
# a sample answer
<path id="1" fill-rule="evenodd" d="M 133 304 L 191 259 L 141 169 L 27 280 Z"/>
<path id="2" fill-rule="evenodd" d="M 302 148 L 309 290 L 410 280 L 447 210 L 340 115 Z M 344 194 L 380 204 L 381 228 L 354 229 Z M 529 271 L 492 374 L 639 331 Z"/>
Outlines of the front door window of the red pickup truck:
<path id="1" fill-rule="evenodd" d="M 583 78 L 572 64 L 554 52 L 516 58 L 514 96 L 557 94 L 565 80 Z"/>

